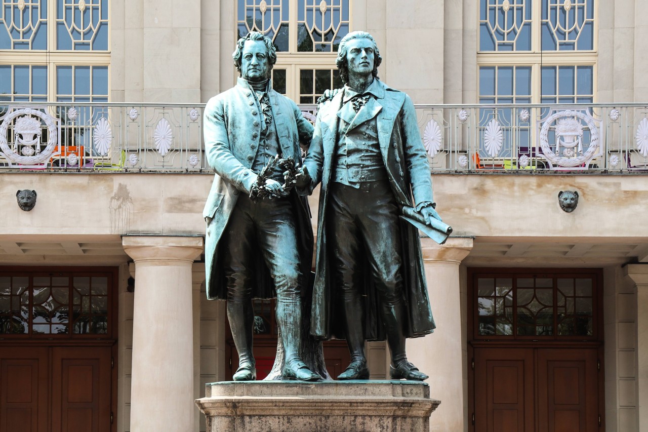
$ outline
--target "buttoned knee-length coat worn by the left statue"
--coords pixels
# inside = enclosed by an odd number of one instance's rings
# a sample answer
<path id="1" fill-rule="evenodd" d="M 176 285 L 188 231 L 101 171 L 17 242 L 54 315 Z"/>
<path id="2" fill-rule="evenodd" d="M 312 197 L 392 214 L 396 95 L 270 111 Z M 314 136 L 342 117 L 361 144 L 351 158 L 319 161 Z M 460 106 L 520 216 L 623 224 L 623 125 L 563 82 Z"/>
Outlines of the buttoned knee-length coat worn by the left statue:
<path id="1" fill-rule="evenodd" d="M 274 90 L 268 91 L 277 138 L 284 158 L 292 156 L 301 164 L 300 141 L 308 145 L 313 126 L 304 119 L 297 105 Z M 241 194 L 249 195 L 257 174 L 251 170 L 257 149 L 261 122 L 264 121 L 259 101 L 247 82 L 238 78 L 233 88 L 214 96 L 207 102 L 203 115 L 205 155 L 216 175 L 209 191 L 203 217 L 207 222 L 205 236 L 205 280 L 207 298 L 227 298 L 222 272 L 222 256 L 227 250 L 219 241 L 229 216 Z M 271 126 L 272 127 L 272 126 Z M 310 275 L 313 234 L 310 211 L 303 197 L 291 193 L 302 272 Z M 272 298 L 273 284 L 260 250 L 252 257 L 257 281 L 253 296 Z"/>

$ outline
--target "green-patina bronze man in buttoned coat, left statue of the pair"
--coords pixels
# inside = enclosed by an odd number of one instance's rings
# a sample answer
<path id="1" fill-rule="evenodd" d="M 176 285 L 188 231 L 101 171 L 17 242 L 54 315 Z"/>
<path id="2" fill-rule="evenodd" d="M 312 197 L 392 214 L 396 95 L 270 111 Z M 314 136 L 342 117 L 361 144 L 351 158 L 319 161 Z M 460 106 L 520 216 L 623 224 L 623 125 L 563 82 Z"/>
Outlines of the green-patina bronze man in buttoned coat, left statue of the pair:
<path id="1" fill-rule="evenodd" d="M 216 171 L 203 212 L 207 298 L 227 300 L 240 359 L 235 380 L 256 379 L 251 299 L 275 293 L 281 358 L 271 378 L 329 378 L 321 342 L 308 343 L 310 284 L 302 288 L 313 247 L 308 203 L 284 179 L 284 170 L 301 165 L 299 143 L 308 144 L 313 126 L 272 89 L 277 55 L 270 39 L 251 32 L 238 40 L 233 57 L 238 83 L 207 103 L 203 123 L 205 153 Z"/>

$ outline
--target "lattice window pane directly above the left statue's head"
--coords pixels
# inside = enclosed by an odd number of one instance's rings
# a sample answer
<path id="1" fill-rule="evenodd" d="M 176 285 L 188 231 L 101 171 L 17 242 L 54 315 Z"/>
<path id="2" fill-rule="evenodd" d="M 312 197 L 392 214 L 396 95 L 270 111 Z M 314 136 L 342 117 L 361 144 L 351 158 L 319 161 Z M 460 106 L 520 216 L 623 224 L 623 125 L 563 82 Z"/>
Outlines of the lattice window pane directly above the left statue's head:
<path id="1" fill-rule="evenodd" d="M 288 0 L 238 0 L 238 38 L 261 32 L 277 51 L 288 51 L 288 10 Z"/>

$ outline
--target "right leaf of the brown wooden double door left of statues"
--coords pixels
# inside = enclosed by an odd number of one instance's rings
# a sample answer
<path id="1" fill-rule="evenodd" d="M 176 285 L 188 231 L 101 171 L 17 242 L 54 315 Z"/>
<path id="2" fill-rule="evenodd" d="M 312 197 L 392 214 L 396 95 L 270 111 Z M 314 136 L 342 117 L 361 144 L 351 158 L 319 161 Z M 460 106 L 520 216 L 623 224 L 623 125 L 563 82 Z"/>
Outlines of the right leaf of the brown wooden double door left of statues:
<path id="1" fill-rule="evenodd" d="M 110 432 L 110 348 L 52 348 L 52 432 Z"/>

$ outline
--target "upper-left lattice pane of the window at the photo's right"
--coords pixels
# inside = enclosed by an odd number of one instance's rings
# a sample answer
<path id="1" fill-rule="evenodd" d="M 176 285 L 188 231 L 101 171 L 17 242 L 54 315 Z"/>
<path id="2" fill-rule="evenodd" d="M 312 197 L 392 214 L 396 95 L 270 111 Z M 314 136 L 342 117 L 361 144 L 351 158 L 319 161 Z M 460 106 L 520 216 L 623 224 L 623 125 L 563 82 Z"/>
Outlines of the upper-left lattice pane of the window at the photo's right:
<path id="1" fill-rule="evenodd" d="M 481 0 L 480 51 L 530 51 L 532 3 Z"/>

